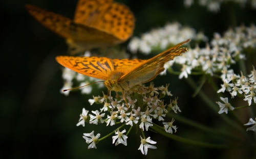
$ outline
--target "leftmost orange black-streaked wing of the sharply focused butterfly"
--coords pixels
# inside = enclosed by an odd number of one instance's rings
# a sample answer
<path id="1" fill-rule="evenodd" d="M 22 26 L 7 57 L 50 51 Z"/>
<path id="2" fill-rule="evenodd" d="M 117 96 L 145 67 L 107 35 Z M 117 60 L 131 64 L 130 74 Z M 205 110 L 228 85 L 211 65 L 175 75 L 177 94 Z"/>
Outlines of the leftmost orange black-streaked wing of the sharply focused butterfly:
<path id="1" fill-rule="evenodd" d="M 108 58 L 58 56 L 56 61 L 78 73 L 101 80 L 107 80 L 111 71 L 114 71 L 114 65 Z"/>

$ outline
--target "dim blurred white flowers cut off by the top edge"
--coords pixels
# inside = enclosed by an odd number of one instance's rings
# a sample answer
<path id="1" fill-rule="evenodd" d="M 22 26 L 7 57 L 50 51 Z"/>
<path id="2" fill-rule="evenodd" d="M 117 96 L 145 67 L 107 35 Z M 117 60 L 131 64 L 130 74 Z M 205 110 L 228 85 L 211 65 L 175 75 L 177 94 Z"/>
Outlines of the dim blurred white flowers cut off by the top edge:
<path id="1" fill-rule="evenodd" d="M 211 12 L 220 11 L 220 6 L 222 3 L 233 2 L 244 7 L 246 3 L 249 3 L 252 8 L 256 9 L 256 0 L 198 0 L 200 6 L 207 7 Z M 194 4 L 194 0 L 184 0 L 184 6 L 190 7 Z"/>

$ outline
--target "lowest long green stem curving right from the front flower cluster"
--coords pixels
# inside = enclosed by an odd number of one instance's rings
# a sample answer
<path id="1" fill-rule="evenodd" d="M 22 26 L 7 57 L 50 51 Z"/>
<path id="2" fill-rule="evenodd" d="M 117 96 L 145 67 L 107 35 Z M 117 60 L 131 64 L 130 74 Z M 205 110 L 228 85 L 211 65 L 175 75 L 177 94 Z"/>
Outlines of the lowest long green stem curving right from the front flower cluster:
<path id="1" fill-rule="evenodd" d="M 209 143 L 204 143 L 204 142 L 199 142 L 199 141 L 195 141 L 195 140 L 191 140 L 191 139 L 186 139 L 186 138 L 182 138 L 179 137 L 177 135 L 173 135 L 173 134 L 169 134 L 166 133 L 162 128 L 160 128 L 159 125 L 155 124 L 151 127 L 152 129 L 154 129 L 155 131 L 157 131 L 159 134 L 179 141 L 179 142 L 183 142 L 186 144 L 190 144 L 190 145 L 197 145 L 197 146 L 202 146 L 202 147 L 208 147 L 208 148 L 234 148 L 234 147 L 239 147 L 239 146 L 234 146 L 234 145 L 220 145 L 220 144 L 209 144 Z"/>

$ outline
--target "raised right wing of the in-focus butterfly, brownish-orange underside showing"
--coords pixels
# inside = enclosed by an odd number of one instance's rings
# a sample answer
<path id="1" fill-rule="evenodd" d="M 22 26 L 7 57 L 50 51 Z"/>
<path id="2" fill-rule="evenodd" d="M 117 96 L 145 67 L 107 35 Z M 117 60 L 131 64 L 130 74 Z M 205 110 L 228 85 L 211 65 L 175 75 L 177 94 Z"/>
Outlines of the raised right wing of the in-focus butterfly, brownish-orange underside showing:
<path id="1" fill-rule="evenodd" d="M 160 72 L 164 70 L 163 66 L 166 62 L 173 60 L 176 56 L 180 56 L 187 51 L 187 48 L 179 48 L 182 44 L 188 42 L 186 40 L 172 48 L 163 51 L 161 54 L 137 65 L 129 73 L 124 74 L 118 79 L 119 85 L 128 85 L 132 88 L 135 85 L 143 84 L 153 80 Z"/>

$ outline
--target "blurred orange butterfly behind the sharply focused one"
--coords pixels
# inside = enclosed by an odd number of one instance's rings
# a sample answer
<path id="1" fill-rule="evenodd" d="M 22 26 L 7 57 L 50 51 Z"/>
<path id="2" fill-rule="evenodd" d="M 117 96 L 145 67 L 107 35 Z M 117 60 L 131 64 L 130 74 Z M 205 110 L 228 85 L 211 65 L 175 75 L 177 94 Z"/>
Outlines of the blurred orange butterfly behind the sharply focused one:
<path id="1" fill-rule="evenodd" d="M 26 9 L 40 23 L 66 38 L 73 54 L 124 42 L 132 36 L 135 26 L 129 8 L 113 0 L 79 0 L 74 21 L 32 5 L 26 5 Z"/>

